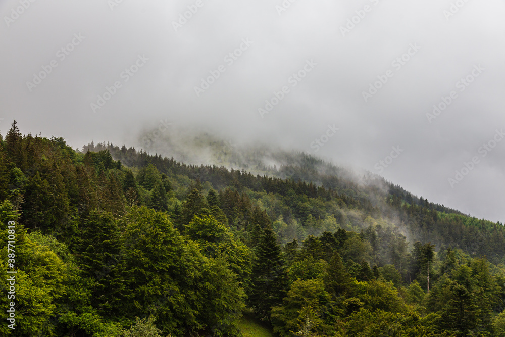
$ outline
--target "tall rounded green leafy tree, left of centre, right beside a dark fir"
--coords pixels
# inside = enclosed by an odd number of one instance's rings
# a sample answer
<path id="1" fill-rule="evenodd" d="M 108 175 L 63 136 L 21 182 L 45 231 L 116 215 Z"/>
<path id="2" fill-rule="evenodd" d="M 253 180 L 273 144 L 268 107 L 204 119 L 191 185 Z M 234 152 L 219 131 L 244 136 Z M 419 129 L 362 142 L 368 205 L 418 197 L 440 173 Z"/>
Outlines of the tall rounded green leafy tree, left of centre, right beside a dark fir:
<path id="1" fill-rule="evenodd" d="M 132 272 L 130 316 L 158 316 L 158 328 L 182 334 L 204 327 L 198 308 L 204 294 L 196 291 L 205 259 L 186 246 L 166 214 L 132 207 L 123 217 L 125 261 Z"/>

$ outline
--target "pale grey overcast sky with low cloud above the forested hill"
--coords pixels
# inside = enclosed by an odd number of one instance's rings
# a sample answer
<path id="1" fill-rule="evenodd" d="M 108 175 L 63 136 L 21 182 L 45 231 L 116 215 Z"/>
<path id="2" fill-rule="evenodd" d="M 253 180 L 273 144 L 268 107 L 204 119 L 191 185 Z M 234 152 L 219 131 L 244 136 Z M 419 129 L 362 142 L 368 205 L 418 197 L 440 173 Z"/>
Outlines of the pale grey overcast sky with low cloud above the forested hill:
<path id="1" fill-rule="evenodd" d="M 504 222 L 504 12 L 502 0 L 2 0 L 0 131 L 16 119 L 80 148 L 197 126 Z"/>

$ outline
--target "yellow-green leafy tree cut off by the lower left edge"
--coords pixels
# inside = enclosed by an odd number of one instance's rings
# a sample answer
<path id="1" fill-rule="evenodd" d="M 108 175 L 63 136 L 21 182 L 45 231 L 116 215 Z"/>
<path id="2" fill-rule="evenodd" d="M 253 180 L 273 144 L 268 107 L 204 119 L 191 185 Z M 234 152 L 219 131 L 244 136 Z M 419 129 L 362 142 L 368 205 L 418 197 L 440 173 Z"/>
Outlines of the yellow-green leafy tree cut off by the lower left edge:
<path id="1" fill-rule="evenodd" d="M 14 254 L 14 267 L 9 270 L 17 273 L 7 273 L 8 260 L 0 260 L 0 275 L 4 279 L 0 282 L 0 289 L 5 295 L 0 299 L 3 310 L 0 326 L 2 335 L 35 336 L 41 334 L 51 335 L 55 326 L 51 319 L 57 311 L 57 301 L 62 297 L 64 290 L 61 286 L 66 272 L 63 261 L 45 246 L 40 246 L 26 235 L 20 217 L 9 201 L 0 204 L 0 253 L 4 257 Z M 14 229 L 8 228 L 13 226 Z M 10 231 L 10 232 L 9 232 Z M 13 234 L 14 233 L 14 234 Z M 14 253 L 8 252 L 8 236 L 15 236 Z M 12 248 L 12 247 L 11 247 Z M 12 281 L 7 281 L 11 279 Z M 11 283 L 14 282 L 14 285 Z M 15 286 L 12 291 L 9 287 Z M 8 293 L 11 294 L 8 294 Z M 15 330 L 8 327 L 8 312 L 10 303 L 14 304 Z M 13 333 L 14 332 L 14 333 Z"/>

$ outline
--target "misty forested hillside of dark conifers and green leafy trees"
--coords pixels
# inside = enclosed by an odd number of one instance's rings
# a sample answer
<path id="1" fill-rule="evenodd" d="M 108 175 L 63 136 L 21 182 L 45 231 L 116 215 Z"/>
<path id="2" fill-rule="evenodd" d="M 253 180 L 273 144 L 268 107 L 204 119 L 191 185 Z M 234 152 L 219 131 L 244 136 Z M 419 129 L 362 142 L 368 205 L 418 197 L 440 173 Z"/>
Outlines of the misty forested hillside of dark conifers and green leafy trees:
<path id="1" fill-rule="evenodd" d="M 75 151 L 14 122 L 0 228 L 6 280 L 16 223 L 16 321 L 0 333 L 239 336 L 251 309 L 280 336 L 505 335 L 502 224 L 282 156 L 231 169 Z"/>

